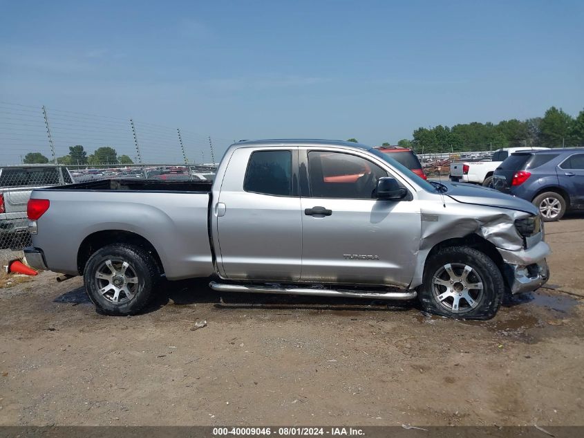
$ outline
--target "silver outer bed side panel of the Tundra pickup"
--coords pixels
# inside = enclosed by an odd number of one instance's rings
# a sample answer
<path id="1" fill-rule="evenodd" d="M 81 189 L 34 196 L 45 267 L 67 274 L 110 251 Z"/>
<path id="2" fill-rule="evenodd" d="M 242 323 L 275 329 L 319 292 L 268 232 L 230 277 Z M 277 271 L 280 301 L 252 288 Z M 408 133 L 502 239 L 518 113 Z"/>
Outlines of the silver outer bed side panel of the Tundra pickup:
<path id="1" fill-rule="evenodd" d="M 50 206 L 38 220 L 35 246 L 53 271 L 77 275 L 88 241 L 141 237 L 170 280 L 214 273 L 209 245 L 209 181 L 106 179 L 32 192 Z M 113 236 L 113 237 L 112 237 Z"/>

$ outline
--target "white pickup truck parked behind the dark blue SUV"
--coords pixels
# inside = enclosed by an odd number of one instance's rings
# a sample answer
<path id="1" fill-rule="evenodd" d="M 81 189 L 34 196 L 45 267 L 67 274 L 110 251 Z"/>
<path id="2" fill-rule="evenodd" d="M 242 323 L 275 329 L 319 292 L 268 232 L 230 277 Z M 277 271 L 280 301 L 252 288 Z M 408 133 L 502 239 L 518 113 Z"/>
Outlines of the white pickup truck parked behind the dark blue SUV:
<path id="1" fill-rule="evenodd" d="M 451 163 L 450 179 L 451 181 L 460 181 L 462 183 L 482 184 L 485 187 L 491 185 L 493 181 L 493 172 L 505 161 L 509 155 L 515 152 L 549 149 L 548 147 L 504 147 L 493 152 L 491 161 L 460 161 Z"/>

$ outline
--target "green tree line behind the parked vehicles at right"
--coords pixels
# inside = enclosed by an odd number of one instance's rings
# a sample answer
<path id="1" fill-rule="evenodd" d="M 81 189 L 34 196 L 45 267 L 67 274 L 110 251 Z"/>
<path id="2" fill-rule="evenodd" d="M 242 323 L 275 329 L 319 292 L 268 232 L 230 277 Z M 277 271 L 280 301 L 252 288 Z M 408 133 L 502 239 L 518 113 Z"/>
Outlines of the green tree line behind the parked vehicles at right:
<path id="1" fill-rule="evenodd" d="M 511 146 L 584 146 L 584 111 L 573 118 L 562 109 L 551 107 L 543 117 L 502 120 L 497 124 L 471 122 L 447 127 L 415 129 L 412 139 L 402 138 L 398 146 L 411 147 L 418 154 L 466 152 Z M 348 141 L 357 141 L 350 138 Z M 390 143 L 382 143 L 389 146 Z"/>

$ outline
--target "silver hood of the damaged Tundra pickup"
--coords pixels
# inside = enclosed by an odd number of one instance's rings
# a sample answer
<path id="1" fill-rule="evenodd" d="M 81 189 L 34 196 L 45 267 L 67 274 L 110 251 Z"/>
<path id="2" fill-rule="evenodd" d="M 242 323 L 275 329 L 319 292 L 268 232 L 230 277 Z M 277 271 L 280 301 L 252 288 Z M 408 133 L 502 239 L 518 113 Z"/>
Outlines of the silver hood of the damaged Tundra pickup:
<path id="1" fill-rule="evenodd" d="M 441 181 L 440 183 L 446 185 L 446 188 L 448 188 L 448 191 L 444 194 L 458 202 L 519 210 L 531 213 L 531 215 L 539 214 L 538 209 L 531 202 L 512 197 L 509 194 L 501 193 L 494 189 L 482 187 L 481 185 L 453 183 L 450 181 Z"/>

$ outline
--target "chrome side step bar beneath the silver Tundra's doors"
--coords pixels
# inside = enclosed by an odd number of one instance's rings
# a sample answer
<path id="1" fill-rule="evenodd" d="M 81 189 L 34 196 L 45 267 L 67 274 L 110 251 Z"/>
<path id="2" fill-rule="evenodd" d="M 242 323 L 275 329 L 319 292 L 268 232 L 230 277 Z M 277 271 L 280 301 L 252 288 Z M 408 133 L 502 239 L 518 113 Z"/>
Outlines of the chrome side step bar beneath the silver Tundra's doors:
<path id="1" fill-rule="evenodd" d="M 417 297 L 416 291 L 404 292 L 367 292 L 332 289 L 315 289 L 308 287 L 278 287 L 278 286 L 245 286 L 245 284 L 223 284 L 210 282 L 209 287 L 219 292 L 251 292 L 251 293 L 281 293 L 283 295 L 313 295 L 322 297 L 368 298 L 370 300 L 412 300 Z"/>

